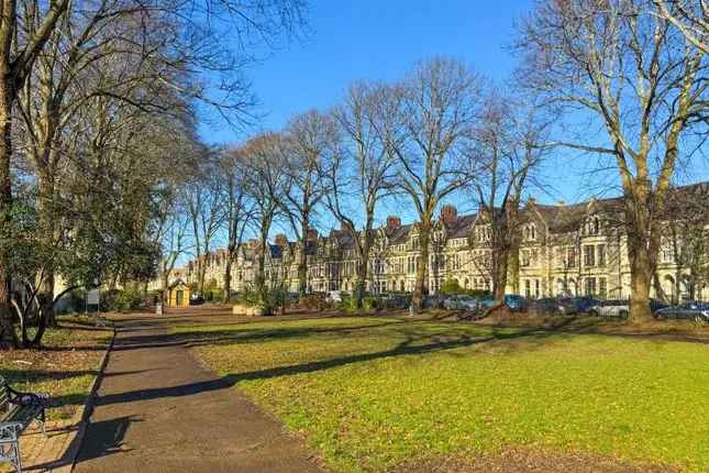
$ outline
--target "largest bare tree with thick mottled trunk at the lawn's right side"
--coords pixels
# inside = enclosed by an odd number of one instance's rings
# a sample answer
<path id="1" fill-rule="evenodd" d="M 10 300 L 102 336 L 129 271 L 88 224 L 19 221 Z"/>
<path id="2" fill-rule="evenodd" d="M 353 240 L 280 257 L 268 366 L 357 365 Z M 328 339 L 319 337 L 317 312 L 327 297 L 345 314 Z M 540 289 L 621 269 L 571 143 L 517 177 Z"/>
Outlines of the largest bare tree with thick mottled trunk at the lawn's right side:
<path id="1" fill-rule="evenodd" d="M 658 216 L 680 146 L 696 146 L 689 132 L 706 119 L 706 56 L 687 48 L 645 0 L 542 1 L 522 22 L 518 46 L 527 87 L 566 110 L 583 110 L 605 131 L 608 145 L 588 133 L 589 124 L 583 135 L 556 143 L 614 163 L 624 194 L 630 317 L 647 318 Z M 698 136 L 706 139 L 706 129 Z"/>

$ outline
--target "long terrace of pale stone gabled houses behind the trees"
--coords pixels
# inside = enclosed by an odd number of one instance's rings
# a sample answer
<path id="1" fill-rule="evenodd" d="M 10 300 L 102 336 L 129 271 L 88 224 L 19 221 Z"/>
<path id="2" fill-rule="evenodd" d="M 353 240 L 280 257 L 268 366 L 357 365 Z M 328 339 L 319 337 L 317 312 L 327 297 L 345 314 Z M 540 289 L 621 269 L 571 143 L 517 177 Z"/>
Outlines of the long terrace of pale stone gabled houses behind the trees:
<path id="1" fill-rule="evenodd" d="M 687 202 L 704 202 L 709 196 L 709 183 L 678 188 L 674 195 Z M 516 228 L 518 249 L 510 264 L 507 292 L 530 298 L 557 295 L 629 297 L 630 264 L 622 215 L 622 198 L 574 205 L 542 205 L 528 199 Z M 709 287 L 695 261 L 697 245 L 687 241 L 682 231 L 671 231 L 677 229 L 673 218 L 668 215 L 663 219 L 667 231 L 663 231 L 653 295 L 673 300 L 709 298 Z M 709 227 L 702 224 L 702 238 L 707 229 Z M 390 216 L 375 230 L 374 241 L 368 290 L 411 292 L 421 264 L 418 223 L 402 224 L 399 217 Z M 448 279 L 456 279 L 465 288 L 490 289 L 490 242 L 491 227 L 485 212 L 458 215 L 453 206 L 442 207 L 430 243 L 429 290 L 437 293 Z M 268 244 L 265 275 L 272 287 L 298 290 L 300 245 L 283 234 Z M 686 257 L 689 246 L 695 258 L 691 262 Z M 234 290 L 253 286 L 259 252 L 255 241 L 240 249 L 232 265 Z M 311 230 L 306 254 L 309 292 L 355 288 L 357 258 L 354 241 L 347 232 L 331 230 L 328 234 L 319 234 Z M 203 258 L 207 282 L 223 286 L 226 257 L 225 250 L 217 250 Z M 706 266 L 704 261 L 700 266 Z M 188 282 L 195 280 L 196 267 L 197 262 L 190 262 L 180 270 L 180 276 Z"/>

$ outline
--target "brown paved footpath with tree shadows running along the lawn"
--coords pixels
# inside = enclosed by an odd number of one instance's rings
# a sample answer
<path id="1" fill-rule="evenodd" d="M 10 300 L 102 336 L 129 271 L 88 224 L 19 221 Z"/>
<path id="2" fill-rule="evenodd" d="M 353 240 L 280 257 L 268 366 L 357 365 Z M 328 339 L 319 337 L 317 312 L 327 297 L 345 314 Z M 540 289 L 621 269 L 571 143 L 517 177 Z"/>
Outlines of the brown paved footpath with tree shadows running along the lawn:
<path id="1" fill-rule="evenodd" d="M 117 322 L 74 471 L 320 471 L 281 424 L 176 343 L 167 334 L 169 320 L 144 316 Z"/>

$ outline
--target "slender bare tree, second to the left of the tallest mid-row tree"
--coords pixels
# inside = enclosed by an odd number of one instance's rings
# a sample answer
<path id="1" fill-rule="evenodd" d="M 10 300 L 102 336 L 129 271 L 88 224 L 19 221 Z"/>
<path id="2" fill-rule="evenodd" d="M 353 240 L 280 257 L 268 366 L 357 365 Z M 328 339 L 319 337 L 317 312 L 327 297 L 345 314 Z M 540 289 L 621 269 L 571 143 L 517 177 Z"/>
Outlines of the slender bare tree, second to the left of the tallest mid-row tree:
<path id="1" fill-rule="evenodd" d="M 308 231 L 318 206 L 328 193 L 321 168 L 336 132 L 332 117 L 312 110 L 293 117 L 283 140 L 289 178 L 283 205 L 290 228 L 300 241 L 298 290 L 301 296 L 308 289 Z"/>

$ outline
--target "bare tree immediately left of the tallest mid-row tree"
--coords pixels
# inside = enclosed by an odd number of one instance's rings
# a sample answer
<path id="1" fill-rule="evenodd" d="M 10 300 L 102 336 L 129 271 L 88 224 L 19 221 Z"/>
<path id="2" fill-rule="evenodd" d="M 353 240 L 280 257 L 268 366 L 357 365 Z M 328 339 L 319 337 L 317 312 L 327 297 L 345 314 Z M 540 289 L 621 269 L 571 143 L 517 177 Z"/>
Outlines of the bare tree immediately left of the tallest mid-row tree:
<path id="1" fill-rule="evenodd" d="M 333 112 L 339 123 L 326 174 L 328 209 L 348 234 L 357 258 L 355 302 L 362 307 L 378 206 L 395 191 L 395 160 L 387 142 L 398 143 L 391 107 L 397 97 L 388 86 L 355 84 Z M 362 221 L 358 221 L 358 217 Z"/>

